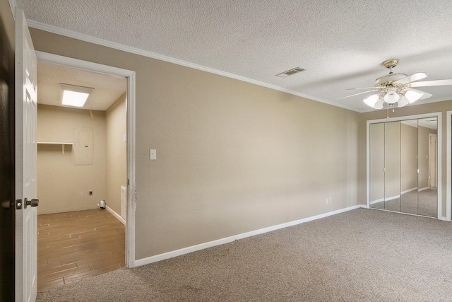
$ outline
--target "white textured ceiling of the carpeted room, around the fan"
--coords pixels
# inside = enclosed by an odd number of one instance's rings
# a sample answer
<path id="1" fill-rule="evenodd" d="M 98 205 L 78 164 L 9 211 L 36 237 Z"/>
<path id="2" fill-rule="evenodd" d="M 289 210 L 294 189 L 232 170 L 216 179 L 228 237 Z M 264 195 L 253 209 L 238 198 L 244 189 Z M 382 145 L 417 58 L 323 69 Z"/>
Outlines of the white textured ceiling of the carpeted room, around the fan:
<path id="1" fill-rule="evenodd" d="M 17 0 L 32 21 L 332 102 L 395 72 L 452 79 L 452 5 L 444 0 Z M 282 71 L 307 71 L 281 79 Z M 429 103 L 452 86 L 420 90 Z M 359 112 L 359 95 L 335 103 Z"/>

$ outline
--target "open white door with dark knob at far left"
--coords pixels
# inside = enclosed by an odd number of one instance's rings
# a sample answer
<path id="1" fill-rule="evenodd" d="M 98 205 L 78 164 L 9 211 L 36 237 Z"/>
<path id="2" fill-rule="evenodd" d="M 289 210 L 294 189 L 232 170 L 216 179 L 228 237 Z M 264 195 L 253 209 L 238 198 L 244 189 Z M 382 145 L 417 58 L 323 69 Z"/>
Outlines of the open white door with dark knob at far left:
<path id="1" fill-rule="evenodd" d="M 30 32 L 16 8 L 16 301 L 27 302 L 37 293 L 36 79 Z"/>

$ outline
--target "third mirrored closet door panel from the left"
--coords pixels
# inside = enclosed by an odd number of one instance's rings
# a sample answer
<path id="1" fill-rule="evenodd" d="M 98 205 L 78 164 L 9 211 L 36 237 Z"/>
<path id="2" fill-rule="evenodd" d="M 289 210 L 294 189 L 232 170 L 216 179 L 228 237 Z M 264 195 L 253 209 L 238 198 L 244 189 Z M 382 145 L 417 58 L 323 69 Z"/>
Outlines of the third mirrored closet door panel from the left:
<path id="1" fill-rule="evenodd" d="M 417 120 L 400 122 L 400 211 L 417 214 Z"/>

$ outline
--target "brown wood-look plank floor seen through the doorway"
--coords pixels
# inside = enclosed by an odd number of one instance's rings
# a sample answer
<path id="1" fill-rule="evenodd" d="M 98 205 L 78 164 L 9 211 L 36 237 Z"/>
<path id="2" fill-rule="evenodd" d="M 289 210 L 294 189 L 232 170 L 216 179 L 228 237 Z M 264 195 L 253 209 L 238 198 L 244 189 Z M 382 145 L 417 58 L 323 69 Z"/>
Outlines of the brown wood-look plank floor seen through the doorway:
<path id="1" fill-rule="evenodd" d="M 106 209 L 37 216 L 37 290 L 125 266 L 125 226 Z"/>

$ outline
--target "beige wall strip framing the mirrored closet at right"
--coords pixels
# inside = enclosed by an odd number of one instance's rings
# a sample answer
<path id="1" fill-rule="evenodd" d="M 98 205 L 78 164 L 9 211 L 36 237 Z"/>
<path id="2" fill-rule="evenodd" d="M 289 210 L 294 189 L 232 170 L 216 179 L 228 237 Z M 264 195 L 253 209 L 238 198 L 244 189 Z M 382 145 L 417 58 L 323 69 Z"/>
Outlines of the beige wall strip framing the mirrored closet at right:
<path id="1" fill-rule="evenodd" d="M 420 100 L 419 102 L 422 102 Z M 389 117 L 402 117 L 409 115 L 420 115 L 424 113 L 441 112 L 442 113 L 442 213 L 446 216 L 446 111 L 452 110 L 452 100 L 430 103 L 424 105 L 408 106 L 397 108 L 395 112 L 389 112 Z M 359 116 L 359 201 L 366 204 L 366 122 L 367 120 L 379 120 L 386 118 L 386 110 L 378 110 L 362 113 Z"/>

